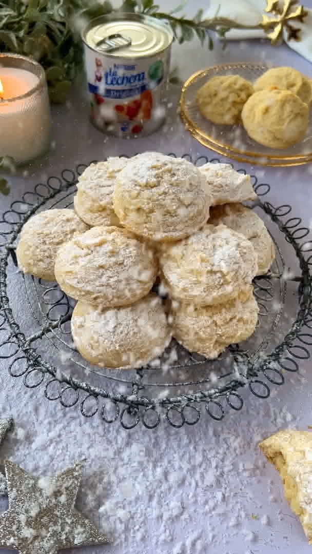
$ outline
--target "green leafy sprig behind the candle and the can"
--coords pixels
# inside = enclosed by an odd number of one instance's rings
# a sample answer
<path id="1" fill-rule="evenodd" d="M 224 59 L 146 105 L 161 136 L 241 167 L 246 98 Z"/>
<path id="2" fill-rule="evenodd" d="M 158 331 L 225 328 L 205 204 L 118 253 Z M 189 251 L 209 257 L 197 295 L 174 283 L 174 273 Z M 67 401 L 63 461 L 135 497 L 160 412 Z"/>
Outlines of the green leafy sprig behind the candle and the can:
<path id="1" fill-rule="evenodd" d="M 185 4 L 170 13 L 160 12 L 154 0 L 124 0 L 114 9 L 106 0 L 0 0 L 0 52 L 24 54 L 39 61 L 47 75 L 50 99 L 64 102 L 80 71 L 83 49 L 80 31 L 94 17 L 109 13 L 145 13 L 165 19 L 179 43 L 197 36 L 213 48 L 210 30 L 223 35 L 229 28 L 244 28 L 231 19 L 177 17 Z"/>

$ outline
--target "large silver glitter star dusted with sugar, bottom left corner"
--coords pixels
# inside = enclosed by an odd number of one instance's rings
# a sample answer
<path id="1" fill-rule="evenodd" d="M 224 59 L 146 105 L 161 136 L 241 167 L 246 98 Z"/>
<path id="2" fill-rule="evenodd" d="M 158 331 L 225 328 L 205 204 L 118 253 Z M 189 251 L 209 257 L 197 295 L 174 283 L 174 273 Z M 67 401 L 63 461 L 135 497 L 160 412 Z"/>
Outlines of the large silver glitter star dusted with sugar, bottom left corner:
<path id="1" fill-rule="evenodd" d="M 0 548 L 57 554 L 61 548 L 108 542 L 74 507 L 83 465 L 52 478 L 36 478 L 6 461 L 9 509 L 0 516 Z"/>

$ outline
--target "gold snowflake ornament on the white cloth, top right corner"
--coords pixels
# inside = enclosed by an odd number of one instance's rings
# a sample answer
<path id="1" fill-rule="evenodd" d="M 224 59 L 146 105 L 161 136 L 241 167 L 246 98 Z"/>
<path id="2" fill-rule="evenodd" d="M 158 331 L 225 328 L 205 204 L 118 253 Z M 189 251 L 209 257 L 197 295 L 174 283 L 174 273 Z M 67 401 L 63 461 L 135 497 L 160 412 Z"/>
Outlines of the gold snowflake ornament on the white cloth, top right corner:
<path id="1" fill-rule="evenodd" d="M 303 23 L 308 12 L 303 6 L 296 6 L 297 0 L 267 0 L 265 12 L 270 16 L 262 16 L 262 27 L 272 44 L 283 38 L 283 30 L 287 30 L 287 39 L 300 40 L 300 29 L 291 25 L 293 21 Z"/>

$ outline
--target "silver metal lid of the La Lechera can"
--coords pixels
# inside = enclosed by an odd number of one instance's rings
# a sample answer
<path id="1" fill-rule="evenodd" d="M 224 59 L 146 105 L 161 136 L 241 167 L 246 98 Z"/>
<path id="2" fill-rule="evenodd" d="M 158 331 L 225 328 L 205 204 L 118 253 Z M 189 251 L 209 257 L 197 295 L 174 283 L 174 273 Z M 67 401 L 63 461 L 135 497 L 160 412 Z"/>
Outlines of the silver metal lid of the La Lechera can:
<path id="1" fill-rule="evenodd" d="M 104 39 L 111 35 L 129 38 L 131 44 L 106 53 L 99 44 L 103 44 Z M 132 13 L 93 19 L 82 36 L 84 42 L 96 52 L 122 58 L 145 58 L 158 54 L 168 48 L 173 40 L 168 24 L 156 18 Z"/>

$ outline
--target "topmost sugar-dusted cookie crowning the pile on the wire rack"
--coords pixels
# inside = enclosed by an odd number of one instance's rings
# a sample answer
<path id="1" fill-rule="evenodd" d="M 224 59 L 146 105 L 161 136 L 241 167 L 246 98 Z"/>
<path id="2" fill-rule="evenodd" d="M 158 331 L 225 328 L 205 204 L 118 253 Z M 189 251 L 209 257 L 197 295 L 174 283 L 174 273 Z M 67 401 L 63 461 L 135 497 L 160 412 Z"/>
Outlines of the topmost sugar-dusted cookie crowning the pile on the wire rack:
<path id="1" fill-rule="evenodd" d="M 158 152 L 131 158 L 117 176 L 114 209 L 122 225 L 151 240 L 194 233 L 209 216 L 204 177 L 192 163 Z"/>

